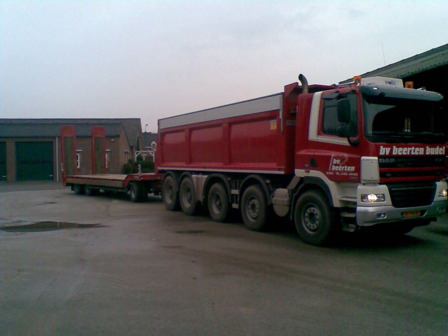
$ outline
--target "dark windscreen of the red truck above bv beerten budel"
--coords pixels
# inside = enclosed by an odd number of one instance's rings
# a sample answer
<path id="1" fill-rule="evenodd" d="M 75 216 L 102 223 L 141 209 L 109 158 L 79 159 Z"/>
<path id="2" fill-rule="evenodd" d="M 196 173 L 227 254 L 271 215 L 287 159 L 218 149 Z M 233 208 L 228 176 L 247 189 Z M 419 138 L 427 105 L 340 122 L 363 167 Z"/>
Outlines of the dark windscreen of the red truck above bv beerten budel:
<path id="1" fill-rule="evenodd" d="M 444 143 L 441 102 L 363 95 L 365 136 L 371 142 Z"/>

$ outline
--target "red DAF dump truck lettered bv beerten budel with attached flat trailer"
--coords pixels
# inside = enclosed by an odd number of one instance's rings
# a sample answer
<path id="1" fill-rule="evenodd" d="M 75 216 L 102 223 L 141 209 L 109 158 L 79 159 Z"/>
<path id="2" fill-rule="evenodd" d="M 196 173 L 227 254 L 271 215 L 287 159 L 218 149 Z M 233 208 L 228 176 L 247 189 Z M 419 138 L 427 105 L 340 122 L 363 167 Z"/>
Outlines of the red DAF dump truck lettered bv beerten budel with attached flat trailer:
<path id="1" fill-rule="evenodd" d="M 340 230 L 406 233 L 446 213 L 442 95 L 384 77 L 339 87 L 299 79 L 282 93 L 160 119 L 156 173 L 110 188 L 134 201 L 161 192 L 167 210 L 187 215 L 204 205 L 217 222 L 237 209 L 251 230 L 288 217 L 316 245 Z M 108 187 L 104 179 L 66 177 L 75 192 Z"/>

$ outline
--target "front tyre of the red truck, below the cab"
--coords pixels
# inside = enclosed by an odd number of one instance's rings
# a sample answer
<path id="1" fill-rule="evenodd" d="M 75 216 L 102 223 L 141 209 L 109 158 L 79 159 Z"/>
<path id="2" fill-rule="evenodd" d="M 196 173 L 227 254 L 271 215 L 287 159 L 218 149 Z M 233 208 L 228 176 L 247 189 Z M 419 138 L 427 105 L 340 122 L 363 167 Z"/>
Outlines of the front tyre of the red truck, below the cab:
<path id="1" fill-rule="evenodd" d="M 335 231 L 333 212 L 327 197 L 319 190 L 305 192 L 294 211 L 297 233 L 307 243 L 325 245 Z"/>

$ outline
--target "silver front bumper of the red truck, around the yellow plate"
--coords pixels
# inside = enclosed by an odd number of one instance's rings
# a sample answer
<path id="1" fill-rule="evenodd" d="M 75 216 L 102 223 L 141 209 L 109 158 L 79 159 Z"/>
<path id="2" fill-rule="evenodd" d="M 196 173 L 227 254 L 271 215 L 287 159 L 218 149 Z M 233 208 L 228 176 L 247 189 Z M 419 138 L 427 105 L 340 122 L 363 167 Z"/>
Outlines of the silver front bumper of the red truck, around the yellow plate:
<path id="1" fill-rule="evenodd" d="M 371 226 L 380 223 L 415 221 L 420 219 L 435 219 L 444 216 L 448 201 L 437 201 L 425 207 L 395 208 L 393 206 L 360 207 L 356 208 L 356 224 Z M 420 211 L 420 216 L 404 217 L 406 212 Z M 385 215 L 383 215 L 385 214 Z M 381 218 L 384 217 L 384 218 Z"/>

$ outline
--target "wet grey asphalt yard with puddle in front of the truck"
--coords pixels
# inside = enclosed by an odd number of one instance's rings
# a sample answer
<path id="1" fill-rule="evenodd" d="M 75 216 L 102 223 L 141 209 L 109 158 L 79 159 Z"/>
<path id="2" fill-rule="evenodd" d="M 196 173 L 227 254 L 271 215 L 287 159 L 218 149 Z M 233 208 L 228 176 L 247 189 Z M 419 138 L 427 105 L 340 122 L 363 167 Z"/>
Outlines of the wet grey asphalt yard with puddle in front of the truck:
<path id="1" fill-rule="evenodd" d="M 0 335 L 448 334 L 446 220 L 323 248 L 157 197 L 5 185 Z"/>

